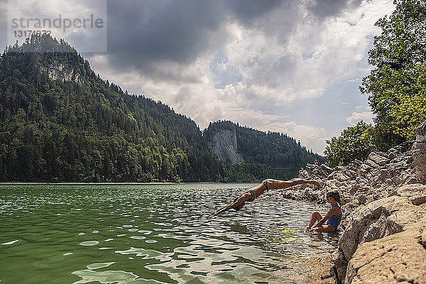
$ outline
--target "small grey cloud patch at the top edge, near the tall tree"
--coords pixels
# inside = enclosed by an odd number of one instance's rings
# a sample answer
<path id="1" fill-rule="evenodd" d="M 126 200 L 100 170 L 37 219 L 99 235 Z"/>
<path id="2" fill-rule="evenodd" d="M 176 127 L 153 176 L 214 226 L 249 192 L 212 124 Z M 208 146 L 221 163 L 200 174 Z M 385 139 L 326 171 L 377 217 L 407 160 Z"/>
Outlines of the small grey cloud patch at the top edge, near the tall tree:
<path id="1" fill-rule="evenodd" d="M 344 9 L 359 6 L 362 0 L 316 0 L 308 9 L 320 20 L 329 16 L 336 16 Z"/>

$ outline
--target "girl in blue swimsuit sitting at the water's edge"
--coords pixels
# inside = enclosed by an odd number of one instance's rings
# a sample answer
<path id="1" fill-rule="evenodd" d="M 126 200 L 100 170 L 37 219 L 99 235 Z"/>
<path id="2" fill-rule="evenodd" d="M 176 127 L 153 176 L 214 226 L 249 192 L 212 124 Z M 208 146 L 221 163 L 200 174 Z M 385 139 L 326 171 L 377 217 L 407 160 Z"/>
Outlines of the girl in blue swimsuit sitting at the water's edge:
<path id="1" fill-rule="evenodd" d="M 342 209 L 340 209 L 340 196 L 337 190 L 329 190 L 327 192 L 327 202 L 332 205 L 329 212 L 322 217 L 320 212 L 313 212 L 305 231 L 337 231 L 337 227 L 342 221 Z M 324 223 L 327 221 L 327 224 Z M 317 222 L 317 224 L 315 224 Z M 315 224 L 315 225 L 314 225 Z"/>

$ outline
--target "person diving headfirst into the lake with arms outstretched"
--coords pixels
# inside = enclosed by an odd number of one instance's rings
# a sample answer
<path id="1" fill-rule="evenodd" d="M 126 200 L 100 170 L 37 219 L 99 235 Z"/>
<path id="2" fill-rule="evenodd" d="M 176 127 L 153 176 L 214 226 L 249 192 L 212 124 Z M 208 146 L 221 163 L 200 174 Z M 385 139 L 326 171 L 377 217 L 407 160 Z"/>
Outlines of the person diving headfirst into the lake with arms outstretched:
<path id="1" fill-rule="evenodd" d="M 232 203 L 217 209 L 212 214 L 209 214 L 209 217 L 216 216 L 225 211 L 228 211 L 229 209 L 236 209 L 236 211 L 239 211 L 241 210 L 241 208 L 244 207 L 244 204 L 246 204 L 246 202 L 251 202 L 255 200 L 257 197 L 259 197 L 259 195 L 263 194 L 264 192 L 268 190 L 281 190 L 287 187 L 292 187 L 295 185 L 305 185 L 305 184 L 315 185 L 317 187 L 322 186 L 320 182 L 311 180 L 310 178 L 305 178 L 305 179 L 293 178 L 292 180 L 270 180 L 270 179 L 263 180 L 263 182 L 260 185 L 256 187 L 252 187 L 251 189 L 241 193 L 241 195 L 236 197 Z"/>

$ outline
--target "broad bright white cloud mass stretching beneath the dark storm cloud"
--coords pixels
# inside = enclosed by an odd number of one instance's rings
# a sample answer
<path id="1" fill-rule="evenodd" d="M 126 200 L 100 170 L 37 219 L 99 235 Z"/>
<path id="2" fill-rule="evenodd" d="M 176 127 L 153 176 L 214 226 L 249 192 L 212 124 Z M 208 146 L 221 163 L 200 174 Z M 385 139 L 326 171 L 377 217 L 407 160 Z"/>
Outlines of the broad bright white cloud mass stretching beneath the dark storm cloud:
<path id="1" fill-rule="evenodd" d="M 309 99 L 323 96 L 333 84 L 364 77 L 368 70 L 361 62 L 372 36 L 378 33 L 374 23 L 390 14 L 394 6 L 392 0 L 363 1 L 354 9 L 320 22 L 307 13 L 304 2 L 300 3 L 291 11 L 275 9 L 252 26 L 230 18 L 226 23 L 226 47 L 209 50 L 190 64 L 162 61 L 150 74 L 136 70 L 117 73 L 108 66 L 108 55 L 97 55 L 91 63 L 104 79 L 169 104 L 201 128 L 210 121 L 229 119 L 262 131 L 287 133 L 308 149 L 322 153 L 327 129 L 312 126 L 315 121 L 294 121 L 288 114 L 272 109 L 290 103 L 300 107 Z M 241 82 L 216 88 L 217 77 L 210 64 L 217 52 L 227 58 L 226 65 L 217 67 L 239 70 Z M 346 116 L 335 119 L 355 124 L 361 119 L 370 122 L 373 115 L 356 109 Z"/>

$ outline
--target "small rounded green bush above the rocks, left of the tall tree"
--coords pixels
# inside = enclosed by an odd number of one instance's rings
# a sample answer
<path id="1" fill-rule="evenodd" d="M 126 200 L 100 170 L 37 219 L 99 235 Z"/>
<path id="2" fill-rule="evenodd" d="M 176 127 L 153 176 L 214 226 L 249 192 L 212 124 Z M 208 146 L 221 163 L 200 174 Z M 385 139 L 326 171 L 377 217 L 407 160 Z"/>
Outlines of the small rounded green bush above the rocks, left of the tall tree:
<path id="1" fill-rule="evenodd" d="M 327 165 L 335 167 L 337 165 L 347 165 L 351 161 L 365 160 L 371 152 L 371 144 L 365 137 L 371 125 L 360 121 L 355 126 L 345 129 L 339 137 L 327 140 L 324 155 L 327 158 Z"/>

